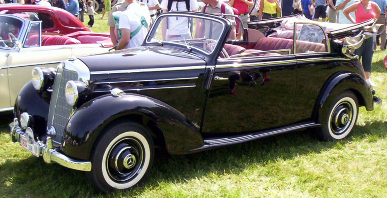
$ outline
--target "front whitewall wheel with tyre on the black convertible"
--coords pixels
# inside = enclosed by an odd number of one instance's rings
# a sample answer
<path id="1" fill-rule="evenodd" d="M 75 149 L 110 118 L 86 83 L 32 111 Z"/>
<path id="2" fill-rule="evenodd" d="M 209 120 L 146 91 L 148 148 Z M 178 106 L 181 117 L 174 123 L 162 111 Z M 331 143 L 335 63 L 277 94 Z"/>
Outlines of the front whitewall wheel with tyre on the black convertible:
<path id="1" fill-rule="evenodd" d="M 129 189 L 143 181 L 153 158 L 153 141 L 144 126 L 135 122 L 116 123 L 104 130 L 96 143 L 92 168 L 87 174 L 104 193 Z"/>

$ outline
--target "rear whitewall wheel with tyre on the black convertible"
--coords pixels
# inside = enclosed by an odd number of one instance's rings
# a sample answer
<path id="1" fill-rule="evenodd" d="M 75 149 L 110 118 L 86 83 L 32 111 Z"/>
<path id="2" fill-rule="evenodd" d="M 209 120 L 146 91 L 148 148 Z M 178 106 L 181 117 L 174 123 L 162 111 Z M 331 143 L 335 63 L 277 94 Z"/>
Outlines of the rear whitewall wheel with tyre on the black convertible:
<path id="1" fill-rule="evenodd" d="M 353 92 L 345 91 L 336 96 L 329 107 L 327 120 L 321 123 L 319 137 L 325 141 L 341 140 L 348 136 L 359 114 L 358 99 Z M 324 115 L 320 115 L 320 118 Z"/>

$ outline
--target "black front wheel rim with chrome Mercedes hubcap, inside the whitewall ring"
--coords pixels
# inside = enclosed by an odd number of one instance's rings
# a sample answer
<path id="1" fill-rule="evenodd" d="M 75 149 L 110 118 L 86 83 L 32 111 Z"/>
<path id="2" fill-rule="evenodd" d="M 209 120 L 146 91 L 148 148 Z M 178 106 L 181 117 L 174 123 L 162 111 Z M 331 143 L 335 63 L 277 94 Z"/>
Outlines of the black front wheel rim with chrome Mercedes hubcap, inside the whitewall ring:
<path id="1" fill-rule="evenodd" d="M 106 171 L 117 183 L 134 179 L 144 165 L 144 146 L 137 138 L 122 138 L 110 148 L 106 160 Z"/>

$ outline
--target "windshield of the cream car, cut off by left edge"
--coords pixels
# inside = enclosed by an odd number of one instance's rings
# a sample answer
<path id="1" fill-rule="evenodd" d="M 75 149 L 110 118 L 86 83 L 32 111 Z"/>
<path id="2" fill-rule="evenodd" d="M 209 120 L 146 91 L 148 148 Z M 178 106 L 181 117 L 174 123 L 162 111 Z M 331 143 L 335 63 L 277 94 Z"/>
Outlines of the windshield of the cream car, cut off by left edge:
<path id="1" fill-rule="evenodd" d="M 0 17 L 0 47 L 12 48 L 22 27 L 22 21 L 12 17 Z"/>

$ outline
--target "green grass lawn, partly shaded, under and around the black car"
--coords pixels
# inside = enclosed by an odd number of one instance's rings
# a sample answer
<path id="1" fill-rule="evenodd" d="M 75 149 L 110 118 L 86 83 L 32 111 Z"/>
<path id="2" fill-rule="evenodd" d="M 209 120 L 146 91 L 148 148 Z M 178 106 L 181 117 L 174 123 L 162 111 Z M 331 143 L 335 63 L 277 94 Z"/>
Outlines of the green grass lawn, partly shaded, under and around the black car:
<path id="1" fill-rule="evenodd" d="M 96 15 L 93 31 L 108 32 Z M 85 16 L 87 25 L 88 17 Z M 375 52 L 372 80 L 387 101 L 387 72 Z M 82 171 L 45 164 L 18 143 L 0 117 L 0 197 L 386 197 L 387 107 L 360 108 L 348 138 L 319 142 L 297 131 L 197 154 L 156 153 L 141 186 L 110 195 L 96 193 Z M 313 132 L 313 131 L 311 131 Z"/>

